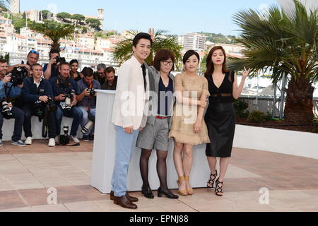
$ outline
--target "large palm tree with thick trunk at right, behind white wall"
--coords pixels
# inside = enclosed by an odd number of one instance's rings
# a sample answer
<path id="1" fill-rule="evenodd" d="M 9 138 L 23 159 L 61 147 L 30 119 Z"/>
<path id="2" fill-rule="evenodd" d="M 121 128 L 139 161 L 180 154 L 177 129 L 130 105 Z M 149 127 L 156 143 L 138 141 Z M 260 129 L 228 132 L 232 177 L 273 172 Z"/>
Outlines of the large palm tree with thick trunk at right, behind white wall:
<path id="1" fill-rule="evenodd" d="M 264 20 L 259 12 L 240 11 L 234 21 L 242 32 L 237 41 L 246 50 L 245 59 L 232 59 L 230 69 L 273 69 L 273 83 L 288 78 L 285 119 L 310 124 L 314 118 L 312 83 L 318 81 L 318 10 L 308 12 L 294 0 L 294 9 L 271 6 Z M 252 76 L 253 76 L 252 75 Z"/>

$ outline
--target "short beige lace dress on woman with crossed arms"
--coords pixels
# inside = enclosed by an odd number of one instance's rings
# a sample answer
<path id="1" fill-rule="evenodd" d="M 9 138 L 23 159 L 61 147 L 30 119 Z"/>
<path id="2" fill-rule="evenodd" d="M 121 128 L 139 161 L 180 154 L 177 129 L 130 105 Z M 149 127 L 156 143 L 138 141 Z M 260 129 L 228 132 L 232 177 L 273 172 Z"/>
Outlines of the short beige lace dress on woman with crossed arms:
<path id="1" fill-rule="evenodd" d="M 175 77 L 175 86 L 182 85 L 183 97 L 200 100 L 201 95 L 208 92 L 208 81 L 203 76 L 189 76 L 187 73 L 177 74 Z M 202 129 L 199 133 L 194 133 L 193 128 L 198 116 L 198 106 L 189 106 L 186 103 L 176 103 L 172 126 L 169 138 L 175 138 L 178 143 L 199 145 L 201 143 L 210 143 L 208 129 L 204 119 L 202 119 Z"/>

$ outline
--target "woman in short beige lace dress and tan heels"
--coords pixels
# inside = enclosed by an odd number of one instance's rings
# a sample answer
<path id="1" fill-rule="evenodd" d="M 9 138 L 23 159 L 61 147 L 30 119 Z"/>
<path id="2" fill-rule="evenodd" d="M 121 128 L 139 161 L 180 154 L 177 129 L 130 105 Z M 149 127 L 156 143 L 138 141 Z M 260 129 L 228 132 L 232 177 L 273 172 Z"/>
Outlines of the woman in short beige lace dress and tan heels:
<path id="1" fill-rule="evenodd" d="M 210 94 L 208 93 L 208 81 L 204 76 L 196 73 L 199 61 L 199 54 L 194 50 L 189 50 L 183 58 L 184 72 L 175 77 L 177 103 L 169 137 L 175 139 L 173 156 L 181 196 L 193 194 L 189 183 L 193 145 L 210 143 L 204 121 L 204 109 Z"/>

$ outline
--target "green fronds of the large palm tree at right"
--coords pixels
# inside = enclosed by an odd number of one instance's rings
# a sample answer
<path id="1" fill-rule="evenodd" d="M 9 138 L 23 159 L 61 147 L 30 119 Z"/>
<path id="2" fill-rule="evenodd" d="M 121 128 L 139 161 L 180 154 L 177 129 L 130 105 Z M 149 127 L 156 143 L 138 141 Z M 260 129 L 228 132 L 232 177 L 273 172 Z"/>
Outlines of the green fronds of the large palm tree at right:
<path id="1" fill-rule="evenodd" d="M 317 8 L 308 12 L 304 5 L 294 0 L 294 10 L 269 8 L 267 20 L 252 9 L 239 11 L 233 16 L 241 35 L 237 42 L 245 47 L 245 59 L 230 59 L 229 66 L 242 64 L 257 71 L 264 67 L 275 70 L 273 81 L 284 73 L 295 78 L 305 75 L 317 79 Z"/>

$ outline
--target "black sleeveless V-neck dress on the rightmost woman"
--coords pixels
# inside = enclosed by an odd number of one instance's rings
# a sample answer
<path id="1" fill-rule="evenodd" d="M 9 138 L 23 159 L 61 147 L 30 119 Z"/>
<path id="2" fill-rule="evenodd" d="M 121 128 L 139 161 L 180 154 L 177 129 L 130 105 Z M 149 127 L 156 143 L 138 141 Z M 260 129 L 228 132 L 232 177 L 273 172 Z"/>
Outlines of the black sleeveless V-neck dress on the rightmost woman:
<path id="1" fill-rule="evenodd" d="M 234 71 L 226 73 L 220 88 L 216 87 L 212 76 L 206 76 L 211 94 L 205 116 L 208 136 L 211 140 L 211 143 L 206 145 L 208 157 L 231 157 L 232 155 L 235 135 L 235 108 L 232 101 L 234 74 Z"/>

